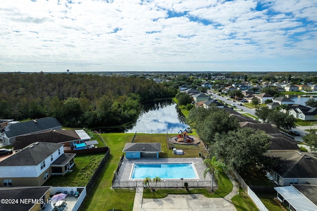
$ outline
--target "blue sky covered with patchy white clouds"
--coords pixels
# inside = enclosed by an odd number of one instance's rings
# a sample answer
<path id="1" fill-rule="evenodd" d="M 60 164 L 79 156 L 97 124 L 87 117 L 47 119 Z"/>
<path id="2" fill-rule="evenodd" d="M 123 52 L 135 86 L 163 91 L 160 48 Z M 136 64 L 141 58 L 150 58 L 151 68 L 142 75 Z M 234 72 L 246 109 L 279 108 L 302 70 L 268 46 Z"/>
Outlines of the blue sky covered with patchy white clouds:
<path id="1" fill-rule="evenodd" d="M 317 0 L 1 0 L 0 72 L 317 71 Z"/>

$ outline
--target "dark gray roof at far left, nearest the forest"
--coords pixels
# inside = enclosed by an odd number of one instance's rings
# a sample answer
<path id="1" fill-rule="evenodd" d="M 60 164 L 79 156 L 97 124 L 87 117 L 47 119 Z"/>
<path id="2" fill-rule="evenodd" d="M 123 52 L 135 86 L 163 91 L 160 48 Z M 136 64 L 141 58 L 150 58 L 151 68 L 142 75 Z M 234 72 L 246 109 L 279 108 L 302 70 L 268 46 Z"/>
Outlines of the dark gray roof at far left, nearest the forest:
<path id="1" fill-rule="evenodd" d="M 8 126 L 9 131 L 6 131 L 5 134 L 8 138 L 11 138 L 24 134 L 35 133 L 38 131 L 50 130 L 58 127 L 61 127 L 61 124 L 57 121 L 57 119 L 53 117 L 46 117 L 11 124 Z"/>

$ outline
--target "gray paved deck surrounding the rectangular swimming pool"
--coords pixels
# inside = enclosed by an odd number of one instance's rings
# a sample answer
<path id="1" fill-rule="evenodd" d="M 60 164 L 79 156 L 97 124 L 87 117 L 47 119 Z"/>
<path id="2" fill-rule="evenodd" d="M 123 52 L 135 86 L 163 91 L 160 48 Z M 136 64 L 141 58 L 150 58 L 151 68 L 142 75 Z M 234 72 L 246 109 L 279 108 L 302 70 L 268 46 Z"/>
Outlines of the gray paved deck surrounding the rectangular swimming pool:
<path id="1" fill-rule="evenodd" d="M 183 187 L 184 182 L 188 182 L 189 187 L 210 187 L 211 175 L 207 174 L 204 178 L 206 165 L 203 163 L 203 158 L 124 158 L 120 166 L 118 175 L 113 184 L 113 188 L 131 188 L 144 187 L 143 179 L 130 179 L 133 163 L 136 162 L 192 162 L 195 166 L 198 178 L 195 179 L 162 179 L 157 184 L 157 187 Z M 213 183 L 215 186 L 216 184 Z"/>

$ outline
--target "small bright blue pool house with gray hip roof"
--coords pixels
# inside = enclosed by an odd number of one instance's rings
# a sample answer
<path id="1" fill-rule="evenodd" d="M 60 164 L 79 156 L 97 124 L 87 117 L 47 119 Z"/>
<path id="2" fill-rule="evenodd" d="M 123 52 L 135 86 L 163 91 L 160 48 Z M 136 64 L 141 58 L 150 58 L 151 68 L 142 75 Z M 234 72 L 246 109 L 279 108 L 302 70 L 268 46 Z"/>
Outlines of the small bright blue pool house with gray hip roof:
<path id="1" fill-rule="evenodd" d="M 160 143 L 126 143 L 123 151 L 125 158 L 159 158 Z"/>

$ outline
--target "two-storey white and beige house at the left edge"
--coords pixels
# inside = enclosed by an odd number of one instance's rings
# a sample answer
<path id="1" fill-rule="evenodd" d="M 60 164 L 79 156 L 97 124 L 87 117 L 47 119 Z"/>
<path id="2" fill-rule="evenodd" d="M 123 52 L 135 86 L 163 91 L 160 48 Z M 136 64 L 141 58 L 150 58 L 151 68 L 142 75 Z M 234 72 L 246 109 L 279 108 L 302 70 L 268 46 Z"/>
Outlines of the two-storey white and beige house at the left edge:
<path id="1" fill-rule="evenodd" d="M 36 142 L 0 161 L 0 186 L 41 186 L 52 175 L 65 175 L 76 154 L 63 144 Z"/>

